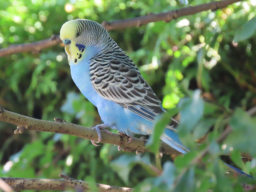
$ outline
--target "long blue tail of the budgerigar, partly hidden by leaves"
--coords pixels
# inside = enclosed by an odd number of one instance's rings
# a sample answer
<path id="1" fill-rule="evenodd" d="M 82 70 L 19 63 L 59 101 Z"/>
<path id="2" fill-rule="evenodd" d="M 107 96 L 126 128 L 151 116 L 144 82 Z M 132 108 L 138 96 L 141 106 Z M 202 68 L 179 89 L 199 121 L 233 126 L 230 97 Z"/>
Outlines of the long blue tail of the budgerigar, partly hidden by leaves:
<path id="1" fill-rule="evenodd" d="M 164 141 L 169 146 L 171 146 L 172 148 L 179 151 L 180 153 L 186 154 L 187 152 L 189 152 L 189 150 L 181 144 L 179 136 L 177 135 L 177 133 L 173 132 L 170 129 L 165 129 L 164 130 L 164 133 L 161 136 L 161 140 Z M 230 170 L 230 172 L 236 173 L 238 175 L 244 175 L 244 176 L 253 178 L 251 175 L 237 169 L 236 167 L 233 167 L 233 166 L 231 166 L 227 163 L 224 163 L 224 164 L 227 166 L 227 168 Z"/>

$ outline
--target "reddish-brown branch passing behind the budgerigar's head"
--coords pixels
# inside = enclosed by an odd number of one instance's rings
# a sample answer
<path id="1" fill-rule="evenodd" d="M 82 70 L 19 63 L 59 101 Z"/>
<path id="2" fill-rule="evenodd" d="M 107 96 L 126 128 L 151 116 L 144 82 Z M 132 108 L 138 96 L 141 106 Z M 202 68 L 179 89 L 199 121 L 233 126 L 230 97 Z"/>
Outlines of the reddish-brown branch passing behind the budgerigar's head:
<path id="1" fill-rule="evenodd" d="M 115 29 L 123 29 L 129 27 L 140 27 L 141 25 L 146 25 L 150 22 L 164 20 L 165 22 L 170 22 L 173 19 L 177 19 L 179 17 L 185 15 L 192 15 L 195 13 L 199 13 L 202 11 L 212 10 L 216 11 L 218 9 L 222 9 L 227 7 L 229 4 L 236 3 L 242 0 L 222 0 L 222 1 L 213 1 L 211 3 L 196 5 L 196 6 L 188 6 L 181 9 L 175 9 L 169 12 L 162 12 L 157 14 L 149 14 L 144 16 L 139 16 L 135 18 L 129 19 L 121 19 L 121 20 L 113 20 L 113 21 L 103 21 L 101 25 L 106 28 L 107 30 L 115 30 Z M 54 46 L 56 44 L 61 43 L 59 35 L 52 35 L 51 38 L 36 41 L 33 43 L 28 44 L 19 44 L 19 45 L 12 45 L 7 48 L 0 49 L 0 57 L 4 55 L 9 55 L 18 52 L 28 52 L 32 51 L 39 52 L 40 50 Z"/>

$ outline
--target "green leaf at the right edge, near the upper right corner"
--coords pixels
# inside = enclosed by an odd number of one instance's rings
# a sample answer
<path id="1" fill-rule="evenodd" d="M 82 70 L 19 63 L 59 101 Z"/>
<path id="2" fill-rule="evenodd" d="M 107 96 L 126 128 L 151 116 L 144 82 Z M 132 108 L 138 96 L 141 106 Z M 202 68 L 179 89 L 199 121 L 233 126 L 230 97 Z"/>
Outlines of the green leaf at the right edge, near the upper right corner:
<path id="1" fill-rule="evenodd" d="M 242 41 L 253 35 L 256 30 L 256 17 L 246 22 L 241 28 L 236 30 L 234 42 Z"/>

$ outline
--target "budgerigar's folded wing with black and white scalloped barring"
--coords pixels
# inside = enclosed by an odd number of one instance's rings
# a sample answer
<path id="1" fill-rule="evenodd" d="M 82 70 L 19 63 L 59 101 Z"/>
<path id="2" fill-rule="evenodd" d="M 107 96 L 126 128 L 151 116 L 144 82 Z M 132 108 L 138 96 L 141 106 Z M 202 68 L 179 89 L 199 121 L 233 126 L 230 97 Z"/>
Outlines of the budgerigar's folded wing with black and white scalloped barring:
<path id="1" fill-rule="evenodd" d="M 120 47 L 94 55 L 90 62 L 90 76 L 92 86 L 101 97 L 151 122 L 165 111 L 139 69 Z M 173 129 L 172 126 L 168 128 Z"/>

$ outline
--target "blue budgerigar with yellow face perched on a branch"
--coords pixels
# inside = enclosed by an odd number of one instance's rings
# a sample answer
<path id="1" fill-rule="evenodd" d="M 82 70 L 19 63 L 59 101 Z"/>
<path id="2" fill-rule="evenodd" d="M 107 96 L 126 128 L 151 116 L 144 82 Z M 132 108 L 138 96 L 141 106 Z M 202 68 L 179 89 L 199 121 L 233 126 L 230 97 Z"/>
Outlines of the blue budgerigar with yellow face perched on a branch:
<path id="1" fill-rule="evenodd" d="M 96 143 L 101 140 L 100 130 L 106 127 L 131 138 L 134 133 L 152 134 L 156 118 L 166 111 L 135 63 L 108 31 L 96 21 L 70 20 L 62 25 L 60 38 L 68 55 L 72 79 L 97 107 L 103 122 L 94 127 L 99 136 Z M 177 124 L 174 119 L 172 123 Z M 173 125 L 166 126 L 160 139 L 179 152 L 187 153 Z M 97 145 L 95 141 L 92 143 Z"/>

